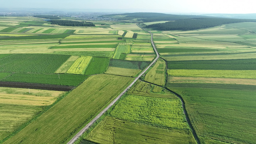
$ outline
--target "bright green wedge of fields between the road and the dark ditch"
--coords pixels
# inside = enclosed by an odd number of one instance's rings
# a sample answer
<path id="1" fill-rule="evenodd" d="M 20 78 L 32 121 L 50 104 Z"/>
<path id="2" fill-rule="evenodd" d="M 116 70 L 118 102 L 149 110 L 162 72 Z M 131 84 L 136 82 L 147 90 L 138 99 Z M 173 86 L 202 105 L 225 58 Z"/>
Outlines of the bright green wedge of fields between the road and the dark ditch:
<path id="1" fill-rule="evenodd" d="M 184 120 L 179 99 L 161 87 L 158 87 L 160 94 L 151 92 L 153 87 L 156 86 L 137 82 L 128 91 L 129 94 L 135 95 L 122 98 L 108 116 L 84 137 L 82 144 L 88 141 L 106 144 L 136 141 L 147 144 L 155 143 L 156 140 L 159 144 L 195 144 L 195 139 Z M 145 96 L 138 96 L 141 94 Z"/>

